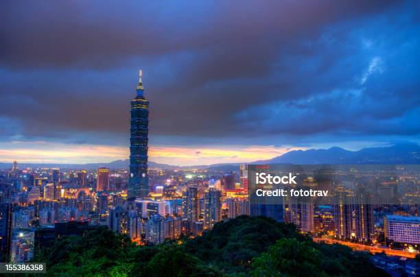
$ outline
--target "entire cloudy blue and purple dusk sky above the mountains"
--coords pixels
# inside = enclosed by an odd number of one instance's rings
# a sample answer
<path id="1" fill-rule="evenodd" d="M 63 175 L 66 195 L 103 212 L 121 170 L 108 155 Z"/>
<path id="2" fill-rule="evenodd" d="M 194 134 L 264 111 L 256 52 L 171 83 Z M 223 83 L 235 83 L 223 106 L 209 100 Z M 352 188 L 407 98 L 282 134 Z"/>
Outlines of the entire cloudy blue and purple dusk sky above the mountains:
<path id="1" fill-rule="evenodd" d="M 299 3 L 298 3 L 299 2 Z M 251 161 L 420 141 L 420 2 L 1 1 L 0 161 Z"/>

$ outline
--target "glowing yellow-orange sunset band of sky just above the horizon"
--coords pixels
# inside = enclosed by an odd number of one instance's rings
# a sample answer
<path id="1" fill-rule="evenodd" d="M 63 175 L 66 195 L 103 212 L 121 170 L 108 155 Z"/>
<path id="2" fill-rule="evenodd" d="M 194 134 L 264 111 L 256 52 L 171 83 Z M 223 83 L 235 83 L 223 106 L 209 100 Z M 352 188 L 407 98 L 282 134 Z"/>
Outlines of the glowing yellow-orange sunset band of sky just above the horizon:
<path id="1" fill-rule="evenodd" d="M 235 147 L 177 147 L 150 146 L 149 156 L 153 162 L 168 165 L 211 165 L 223 162 L 252 162 L 267 160 L 285 152 L 303 149 L 297 147 L 241 146 Z M 14 141 L 0 143 L 0 160 L 4 162 L 40 163 L 89 163 L 125 160 L 129 156 L 128 147 L 110 145 L 78 145 L 66 143 L 46 143 Z"/>

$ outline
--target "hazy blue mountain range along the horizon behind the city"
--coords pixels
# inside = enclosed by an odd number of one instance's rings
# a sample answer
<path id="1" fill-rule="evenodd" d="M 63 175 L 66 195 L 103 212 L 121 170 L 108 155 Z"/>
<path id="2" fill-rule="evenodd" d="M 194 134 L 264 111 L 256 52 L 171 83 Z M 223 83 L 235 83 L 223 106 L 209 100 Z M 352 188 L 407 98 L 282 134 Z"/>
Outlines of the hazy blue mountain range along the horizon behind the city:
<path id="1" fill-rule="evenodd" d="M 419 165 L 420 145 L 417 143 L 398 143 L 388 147 L 369 147 L 358 151 L 349 151 L 340 147 L 329 149 L 293 150 L 270 160 L 257 160 L 255 162 L 224 163 L 215 165 L 196 165 L 191 167 L 178 167 L 149 161 L 151 169 L 213 169 L 220 171 L 235 171 L 240 164 L 269 165 L 269 164 L 296 164 L 296 165 Z M 108 167 L 110 169 L 128 168 L 129 160 L 115 160 L 113 162 L 88 163 L 84 165 L 73 164 L 30 164 L 21 163 L 21 167 L 60 167 L 68 169 L 96 169 Z M 10 168 L 9 162 L 0 162 L 0 169 Z"/>

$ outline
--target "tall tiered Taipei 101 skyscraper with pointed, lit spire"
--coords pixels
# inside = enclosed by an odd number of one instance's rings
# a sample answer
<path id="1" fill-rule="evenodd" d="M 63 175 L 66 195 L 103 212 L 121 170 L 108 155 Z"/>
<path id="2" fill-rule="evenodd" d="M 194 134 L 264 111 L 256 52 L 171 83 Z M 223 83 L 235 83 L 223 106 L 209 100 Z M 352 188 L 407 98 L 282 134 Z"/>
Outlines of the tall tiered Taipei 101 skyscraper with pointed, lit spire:
<path id="1" fill-rule="evenodd" d="M 137 96 L 131 101 L 130 121 L 130 181 L 128 197 L 147 197 L 149 193 L 148 178 L 148 131 L 149 101 L 144 98 L 142 71 L 139 71 Z"/>

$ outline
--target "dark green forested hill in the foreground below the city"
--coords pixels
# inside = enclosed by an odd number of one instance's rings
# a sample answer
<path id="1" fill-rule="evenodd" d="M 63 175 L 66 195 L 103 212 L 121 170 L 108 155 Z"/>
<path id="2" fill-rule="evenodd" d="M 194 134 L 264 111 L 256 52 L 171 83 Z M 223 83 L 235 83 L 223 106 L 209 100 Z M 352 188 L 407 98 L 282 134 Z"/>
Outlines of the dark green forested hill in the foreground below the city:
<path id="1" fill-rule="evenodd" d="M 292 224 L 241 216 L 202 237 L 137 246 L 111 230 L 62 237 L 36 254 L 47 276 L 386 276 L 369 254 L 312 242 Z"/>

